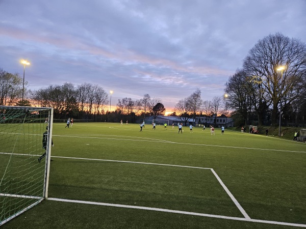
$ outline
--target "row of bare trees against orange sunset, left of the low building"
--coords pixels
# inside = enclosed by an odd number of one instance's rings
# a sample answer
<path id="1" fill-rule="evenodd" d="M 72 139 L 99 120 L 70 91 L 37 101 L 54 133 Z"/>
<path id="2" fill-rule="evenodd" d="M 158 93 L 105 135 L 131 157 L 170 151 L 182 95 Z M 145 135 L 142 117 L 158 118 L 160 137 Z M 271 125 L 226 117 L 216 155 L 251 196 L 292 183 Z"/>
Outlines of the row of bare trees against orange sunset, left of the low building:
<path id="1" fill-rule="evenodd" d="M 160 98 L 151 99 L 146 94 L 140 100 L 118 99 L 116 109 L 111 112 L 107 109 L 110 102 L 108 93 L 99 85 L 87 82 L 77 86 L 66 82 L 37 91 L 25 90 L 27 99 L 23 101 L 20 100 L 22 88 L 22 78 L 18 73 L 11 74 L 0 69 L 0 105 L 53 107 L 54 119 L 74 118 L 99 122 L 119 122 L 124 119 L 135 123 L 138 119 L 145 119 L 146 115 L 156 119 L 164 115 L 166 110 Z"/>

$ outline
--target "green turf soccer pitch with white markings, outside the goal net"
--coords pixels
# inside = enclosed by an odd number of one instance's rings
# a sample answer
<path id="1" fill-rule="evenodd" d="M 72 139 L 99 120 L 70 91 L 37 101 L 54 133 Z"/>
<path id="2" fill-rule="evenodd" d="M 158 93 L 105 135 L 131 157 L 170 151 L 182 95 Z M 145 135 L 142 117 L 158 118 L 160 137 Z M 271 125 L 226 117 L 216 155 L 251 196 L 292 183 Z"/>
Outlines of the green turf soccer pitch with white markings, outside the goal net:
<path id="1" fill-rule="evenodd" d="M 306 226 L 306 144 L 220 129 L 139 130 L 55 123 L 49 199 L 3 228 Z"/>

